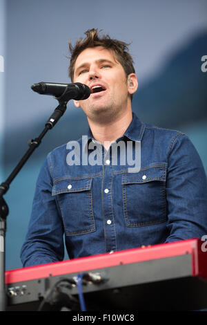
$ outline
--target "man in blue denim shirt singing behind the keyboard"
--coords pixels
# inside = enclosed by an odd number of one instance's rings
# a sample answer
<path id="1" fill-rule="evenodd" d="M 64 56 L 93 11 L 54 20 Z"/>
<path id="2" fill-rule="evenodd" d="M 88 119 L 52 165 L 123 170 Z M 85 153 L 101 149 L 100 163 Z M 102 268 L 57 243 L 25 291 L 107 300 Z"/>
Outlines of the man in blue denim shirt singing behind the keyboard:
<path id="1" fill-rule="evenodd" d="M 61 261 L 64 239 L 72 259 L 207 234 L 201 159 L 184 133 L 132 113 L 138 82 L 128 44 L 92 29 L 69 47 L 70 78 L 91 91 L 75 101 L 89 131 L 43 163 L 23 266 Z"/>

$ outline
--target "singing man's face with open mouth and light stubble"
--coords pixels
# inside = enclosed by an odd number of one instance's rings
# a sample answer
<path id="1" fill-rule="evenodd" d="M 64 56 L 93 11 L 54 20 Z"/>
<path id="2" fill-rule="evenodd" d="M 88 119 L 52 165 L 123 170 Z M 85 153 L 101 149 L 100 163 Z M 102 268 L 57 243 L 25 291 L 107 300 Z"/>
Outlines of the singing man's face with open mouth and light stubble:
<path id="1" fill-rule="evenodd" d="M 99 122 L 113 118 L 131 107 L 130 93 L 137 90 L 137 78 L 131 74 L 133 86 L 121 64 L 111 50 L 97 46 L 83 50 L 77 57 L 74 82 L 86 84 L 91 89 L 87 100 L 75 101 L 90 120 Z M 132 90 L 132 88 L 135 88 Z"/>

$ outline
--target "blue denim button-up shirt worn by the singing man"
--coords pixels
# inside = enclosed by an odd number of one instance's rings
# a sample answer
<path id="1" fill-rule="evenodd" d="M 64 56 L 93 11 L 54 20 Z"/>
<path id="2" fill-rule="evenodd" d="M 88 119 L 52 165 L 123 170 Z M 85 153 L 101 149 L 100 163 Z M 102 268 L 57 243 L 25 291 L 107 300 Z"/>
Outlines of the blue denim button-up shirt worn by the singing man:
<path id="1" fill-rule="evenodd" d="M 132 144 L 133 154 L 141 144 L 141 168 L 129 172 L 121 149 L 112 163 L 112 147 L 107 155 L 100 152 L 101 163 L 99 156 L 99 163 L 89 164 L 85 155 L 79 164 L 83 153 L 95 161 L 90 131 L 88 142 L 72 142 L 79 145 L 74 165 L 71 142 L 48 154 L 21 250 L 23 266 L 61 261 L 64 236 L 72 259 L 207 234 L 206 174 L 188 137 L 142 123 L 133 113 L 118 140 Z"/>

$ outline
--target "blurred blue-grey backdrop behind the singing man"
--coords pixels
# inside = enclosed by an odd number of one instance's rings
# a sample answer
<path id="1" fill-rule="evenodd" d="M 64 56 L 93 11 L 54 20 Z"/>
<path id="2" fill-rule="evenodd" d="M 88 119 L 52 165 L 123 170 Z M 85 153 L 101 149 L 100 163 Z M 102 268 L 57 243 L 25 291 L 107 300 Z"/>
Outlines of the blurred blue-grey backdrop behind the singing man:
<path id="1" fill-rule="evenodd" d="M 0 0 L 0 183 L 58 104 L 30 86 L 69 83 L 68 40 L 74 44 L 89 28 L 130 43 L 139 81 L 133 111 L 144 122 L 186 133 L 207 172 L 207 64 L 201 61 L 207 55 L 206 0 Z M 4 196 L 10 208 L 7 270 L 21 268 L 19 253 L 44 158 L 87 129 L 85 115 L 70 101 L 12 181 Z"/>

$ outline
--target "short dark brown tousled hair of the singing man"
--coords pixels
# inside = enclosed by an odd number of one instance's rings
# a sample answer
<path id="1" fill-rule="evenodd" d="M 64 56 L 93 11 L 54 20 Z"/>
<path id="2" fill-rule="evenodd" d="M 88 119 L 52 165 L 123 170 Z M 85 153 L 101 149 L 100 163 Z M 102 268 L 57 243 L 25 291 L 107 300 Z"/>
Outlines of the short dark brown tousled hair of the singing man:
<path id="1" fill-rule="evenodd" d="M 134 62 L 128 50 L 129 44 L 124 43 L 124 41 L 118 41 L 117 39 L 111 39 L 108 35 L 99 37 L 99 32 L 101 32 L 101 30 L 98 31 L 95 28 L 87 30 L 85 32 L 86 38 L 77 39 L 75 46 L 72 46 L 71 41 L 69 41 L 71 57 L 68 74 L 72 82 L 74 80 L 74 68 L 77 57 L 83 50 L 86 50 L 86 48 L 94 48 L 96 46 L 102 46 L 103 48 L 112 50 L 118 62 L 123 66 L 126 77 L 128 77 L 130 73 L 135 73 L 135 68 L 133 66 Z"/>

